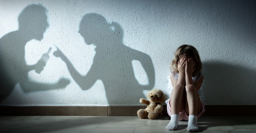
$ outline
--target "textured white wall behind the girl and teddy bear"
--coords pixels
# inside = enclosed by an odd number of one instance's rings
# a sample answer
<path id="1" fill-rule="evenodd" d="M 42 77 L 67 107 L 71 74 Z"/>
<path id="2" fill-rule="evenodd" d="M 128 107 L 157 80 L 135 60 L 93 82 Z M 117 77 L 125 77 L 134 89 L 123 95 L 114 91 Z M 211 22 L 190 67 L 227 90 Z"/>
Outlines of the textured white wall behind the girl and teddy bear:
<path id="1" fill-rule="evenodd" d="M 17 17 L 31 4 L 41 4 L 48 10 L 49 28 L 44 32 L 44 38 L 41 41 L 20 39 L 20 36 L 35 34 L 31 29 L 4 39 L 5 35 L 18 30 Z M 206 105 L 255 105 L 255 6 L 253 0 L 1 0 L 1 60 L 11 62 L 10 68 L 16 61 L 34 65 L 49 47 L 52 50 L 42 73 L 29 69 L 26 73 L 28 80 L 25 80 L 26 77 L 16 77 L 26 71 L 15 69 L 11 75 L 13 80 L 16 79 L 14 86 L 1 88 L 0 104 L 140 104 L 139 99 L 145 98 L 153 88 L 168 94 L 166 78 L 173 53 L 181 44 L 189 44 L 201 55 Z M 108 24 L 119 24 L 121 30 L 110 26 L 112 31 L 119 30 L 115 33 L 118 37 L 108 34 L 103 21 L 93 18 L 93 14 L 92 21 L 101 28 L 87 31 L 84 40 L 78 31 L 86 13 L 100 14 Z M 91 28 L 95 29 L 92 25 Z M 96 32 L 101 38 L 94 35 Z M 108 34 L 108 38 L 103 34 Z M 86 43 L 88 39 L 98 45 L 89 45 Z M 15 46 L 16 42 L 20 44 L 22 41 L 23 47 Z M 57 47 L 67 57 L 66 61 L 70 61 L 68 66 L 53 55 Z M 17 57 L 18 53 L 25 55 Z M 72 70 L 69 72 L 68 68 Z M 72 77 L 75 72 L 82 77 Z M 60 79 L 69 81 L 66 87 L 61 87 L 65 83 L 58 83 Z"/>

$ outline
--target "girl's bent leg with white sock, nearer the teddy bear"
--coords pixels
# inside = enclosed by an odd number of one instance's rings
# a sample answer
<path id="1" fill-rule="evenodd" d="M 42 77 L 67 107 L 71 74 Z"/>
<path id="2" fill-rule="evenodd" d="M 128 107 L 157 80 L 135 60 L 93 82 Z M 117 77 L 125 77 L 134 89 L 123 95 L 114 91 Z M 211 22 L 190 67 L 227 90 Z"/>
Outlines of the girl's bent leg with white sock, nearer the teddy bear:
<path id="1" fill-rule="evenodd" d="M 185 108 L 184 93 L 185 87 L 181 84 L 176 84 L 172 88 L 170 105 L 172 110 L 171 121 L 166 126 L 168 130 L 176 130 L 179 124 L 179 113 Z"/>

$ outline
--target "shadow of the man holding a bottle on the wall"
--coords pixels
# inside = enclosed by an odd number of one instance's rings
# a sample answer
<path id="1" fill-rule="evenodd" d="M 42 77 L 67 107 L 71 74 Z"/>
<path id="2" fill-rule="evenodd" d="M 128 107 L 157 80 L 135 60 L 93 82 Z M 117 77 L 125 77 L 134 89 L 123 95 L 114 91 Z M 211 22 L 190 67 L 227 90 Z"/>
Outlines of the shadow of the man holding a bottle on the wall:
<path id="1" fill-rule="evenodd" d="M 24 92 L 44 91 L 65 88 L 69 81 L 60 79 L 56 83 L 36 83 L 28 78 L 28 72 L 40 73 L 45 63 L 39 60 L 27 65 L 25 45 L 32 39 L 41 40 L 49 26 L 47 10 L 42 5 L 28 5 L 18 16 L 19 30 L 10 32 L 0 39 L 0 103 L 8 97 L 14 86 L 19 83 Z"/>

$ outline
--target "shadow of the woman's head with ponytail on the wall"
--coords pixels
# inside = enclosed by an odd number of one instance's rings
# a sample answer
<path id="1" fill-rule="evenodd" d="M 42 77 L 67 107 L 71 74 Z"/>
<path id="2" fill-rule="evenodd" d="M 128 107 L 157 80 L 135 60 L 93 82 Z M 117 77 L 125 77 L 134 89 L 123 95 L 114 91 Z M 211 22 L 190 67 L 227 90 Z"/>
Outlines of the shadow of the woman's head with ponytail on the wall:
<path id="1" fill-rule="evenodd" d="M 97 13 L 85 14 L 79 24 L 78 32 L 87 45 L 94 44 L 96 46 L 106 42 L 120 44 L 124 34 L 118 23 L 109 23 L 105 17 Z"/>

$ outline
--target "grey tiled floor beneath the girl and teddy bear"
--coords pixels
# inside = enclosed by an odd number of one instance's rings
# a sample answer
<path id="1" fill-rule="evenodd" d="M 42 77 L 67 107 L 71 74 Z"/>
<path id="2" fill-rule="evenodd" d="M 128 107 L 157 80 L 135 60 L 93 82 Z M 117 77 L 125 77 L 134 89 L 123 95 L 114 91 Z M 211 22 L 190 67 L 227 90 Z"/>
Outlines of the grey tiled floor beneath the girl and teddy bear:
<path id="1" fill-rule="evenodd" d="M 26 133 L 185 133 L 188 122 L 176 131 L 165 126 L 170 117 L 156 120 L 137 116 L 0 116 L 0 132 Z M 256 133 L 256 116 L 202 116 L 198 132 Z"/>

